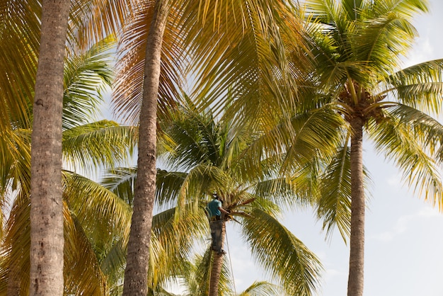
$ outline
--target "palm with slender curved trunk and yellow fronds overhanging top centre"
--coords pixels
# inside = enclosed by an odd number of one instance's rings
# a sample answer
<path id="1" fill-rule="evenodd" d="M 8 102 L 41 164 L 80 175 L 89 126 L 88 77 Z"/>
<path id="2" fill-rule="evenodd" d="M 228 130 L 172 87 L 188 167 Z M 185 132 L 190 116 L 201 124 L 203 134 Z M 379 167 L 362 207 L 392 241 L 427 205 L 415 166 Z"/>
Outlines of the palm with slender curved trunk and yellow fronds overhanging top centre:
<path id="1" fill-rule="evenodd" d="M 156 116 L 167 113 L 167 107 L 176 104 L 176 87 L 182 85 L 178 71 L 187 74 L 186 66 L 192 65 L 202 77 L 197 79 L 201 81 L 199 89 L 204 89 L 209 98 L 202 105 L 209 106 L 224 91 L 223 86 L 241 79 L 245 84 L 237 84 L 236 91 L 246 91 L 249 96 L 275 97 L 280 86 L 273 84 L 273 74 L 280 71 L 282 76 L 289 77 L 286 72 L 290 71 L 284 64 L 286 56 L 280 33 L 287 34 L 286 40 L 301 40 L 298 30 L 294 27 L 289 30 L 284 22 L 291 16 L 284 3 L 145 1 L 135 13 L 135 21 L 125 30 L 116 110 L 129 115 L 132 124 L 139 124 L 141 137 L 134 197 L 137 214 L 132 221 L 124 295 L 146 294 L 156 180 Z M 270 56 L 272 62 L 268 62 Z M 284 95 L 291 93 L 286 90 Z"/>

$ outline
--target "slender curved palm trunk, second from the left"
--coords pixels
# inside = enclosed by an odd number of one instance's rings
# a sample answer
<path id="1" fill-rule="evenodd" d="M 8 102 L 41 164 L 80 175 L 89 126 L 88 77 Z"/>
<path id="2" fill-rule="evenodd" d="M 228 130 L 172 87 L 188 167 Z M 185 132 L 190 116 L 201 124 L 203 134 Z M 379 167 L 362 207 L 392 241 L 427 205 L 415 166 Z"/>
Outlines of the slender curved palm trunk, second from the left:
<path id="1" fill-rule="evenodd" d="M 143 101 L 139 120 L 139 154 L 134 190 L 134 212 L 123 295 L 145 296 L 149 268 L 152 211 L 156 190 L 156 122 L 161 71 L 161 46 L 169 11 L 168 0 L 157 0 L 146 40 Z"/>

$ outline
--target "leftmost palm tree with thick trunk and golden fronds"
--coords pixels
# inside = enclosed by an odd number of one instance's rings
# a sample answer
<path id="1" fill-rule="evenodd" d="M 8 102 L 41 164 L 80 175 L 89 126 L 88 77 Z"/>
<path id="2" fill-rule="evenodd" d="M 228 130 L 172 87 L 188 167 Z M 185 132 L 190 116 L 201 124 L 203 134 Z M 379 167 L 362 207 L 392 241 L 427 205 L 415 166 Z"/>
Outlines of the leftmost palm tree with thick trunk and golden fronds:
<path id="1" fill-rule="evenodd" d="M 124 1 L 119 1 L 117 5 L 110 4 L 113 1 L 76 1 L 71 5 L 69 1 L 20 0 L 1 1 L 0 4 L 0 43 L 1 52 L 4 53 L 0 58 L 3 65 L 0 75 L 2 139 L 15 133 L 11 127 L 18 124 L 30 126 L 34 122 L 32 196 L 35 201 L 31 219 L 33 290 L 39 287 L 41 292 L 50 292 L 54 289 L 57 290 L 55 295 L 60 295 L 63 287 L 61 147 L 64 52 L 65 49 L 72 49 L 80 40 L 83 43 L 95 42 L 110 31 L 118 30 L 127 18 L 128 5 Z M 98 7 L 103 8 L 100 13 Z M 71 22 L 68 24 L 69 16 Z M 33 97 L 33 100 L 30 99 Z M 30 112 L 33 102 L 35 113 Z M 19 137 L 14 140 L 18 140 L 15 144 L 24 144 Z M 52 207 L 54 210 L 51 210 Z M 49 227 L 42 227 L 45 225 Z M 46 261 L 50 261 L 50 264 Z M 41 277 L 38 275 L 40 271 Z M 46 279 L 48 273 L 57 275 L 54 282 Z"/>

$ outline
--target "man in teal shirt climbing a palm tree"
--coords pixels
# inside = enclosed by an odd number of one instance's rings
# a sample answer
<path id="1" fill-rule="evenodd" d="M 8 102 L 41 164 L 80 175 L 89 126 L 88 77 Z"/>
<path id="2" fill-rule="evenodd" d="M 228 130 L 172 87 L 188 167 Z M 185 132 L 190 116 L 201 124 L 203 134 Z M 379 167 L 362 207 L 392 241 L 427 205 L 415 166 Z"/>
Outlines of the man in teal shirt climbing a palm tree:
<path id="1" fill-rule="evenodd" d="M 209 227 L 211 227 L 211 237 L 212 237 L 212 250 L 217 251 L 217 254 L 226 254 L 222 249 L 222 213 L 224 215 L 229 215 L 229 212 L 224 210 L 222 207 L 222 198 L 214 193 L 214 199 L 207 204 L 207 213 L 209 216 Z"/>

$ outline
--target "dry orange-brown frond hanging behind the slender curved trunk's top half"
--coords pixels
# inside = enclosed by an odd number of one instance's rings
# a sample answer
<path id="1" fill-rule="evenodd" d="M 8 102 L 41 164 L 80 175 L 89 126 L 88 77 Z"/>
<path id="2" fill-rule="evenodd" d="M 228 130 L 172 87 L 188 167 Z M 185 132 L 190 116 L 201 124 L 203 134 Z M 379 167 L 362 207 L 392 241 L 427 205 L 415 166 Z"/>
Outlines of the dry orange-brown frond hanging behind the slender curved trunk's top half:
<path id="1" fill-rule="evenodd" d="M 176 20 L 180 19 L 180 1 L 170 11 L 170 18 L 163 35 L 161 53 L 161 74 L 159 85 L 159 118 L 167 117 L 168 108 L 176 106 L 179 89 L 183 86 L 185 73 L 185 47 L 183 32 Z M 116 64 L 117 77 L 113 93 L 114 111 L 118 117 L 125 117 L 130 125 L 138 125 L 142 106 L 142 85 L 144 77 L 144 54 L 146 35 L 154 11 L 154 1 L 137 3 L 130 23 L 123 28 L 122 40 L 117 48 L 121 56 Z"/>

